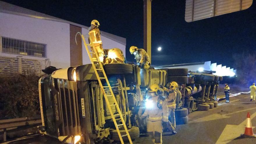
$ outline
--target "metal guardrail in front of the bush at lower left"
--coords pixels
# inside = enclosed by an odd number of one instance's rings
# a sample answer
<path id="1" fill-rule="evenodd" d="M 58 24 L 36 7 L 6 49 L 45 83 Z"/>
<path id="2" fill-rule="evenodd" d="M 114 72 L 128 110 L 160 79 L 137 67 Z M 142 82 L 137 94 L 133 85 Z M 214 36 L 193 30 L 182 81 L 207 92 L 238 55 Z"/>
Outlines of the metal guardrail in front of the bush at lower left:
<path id="1" fill-rule="evenodd" d="M 31 117 L 31 118 L 13 118 L 7 120 L 0 120 L 0 130 L 3 129 L 3 141 L 6 141 L 6 133 L 8 128 L 20 127 L 26 125 L 36 125 L 41 124 L 41 117 Z"/>

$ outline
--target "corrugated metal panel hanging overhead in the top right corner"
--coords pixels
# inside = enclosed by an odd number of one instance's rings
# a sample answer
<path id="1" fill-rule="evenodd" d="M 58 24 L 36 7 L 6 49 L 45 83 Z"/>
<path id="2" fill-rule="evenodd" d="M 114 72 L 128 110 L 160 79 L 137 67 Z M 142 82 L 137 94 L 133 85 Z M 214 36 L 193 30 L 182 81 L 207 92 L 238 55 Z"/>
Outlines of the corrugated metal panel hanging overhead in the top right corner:
<path id="1" fill-rule="evenodd" d="M 253 0 L 186 0 L 185 21 L 193 22 L 249 8 Z"/>

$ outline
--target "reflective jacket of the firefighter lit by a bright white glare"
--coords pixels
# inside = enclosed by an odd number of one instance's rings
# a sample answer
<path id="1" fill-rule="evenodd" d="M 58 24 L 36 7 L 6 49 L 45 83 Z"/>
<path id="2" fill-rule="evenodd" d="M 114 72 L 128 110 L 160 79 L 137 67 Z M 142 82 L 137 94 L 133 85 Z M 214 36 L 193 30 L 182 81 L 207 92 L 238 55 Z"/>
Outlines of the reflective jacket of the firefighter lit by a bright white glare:
<path id="1" fill-rule="evenodd" d="M 164 97 L 162 97 L 161 100 L 159 100 L 159 96 L 155 96 L 155 97 L 151 96 L 147 102 L 149 102 L 149 104 L 148 105 L 146 104 L 147 107 L 145 108 L 145 112 L 143 113 L 142 117 L 148 117 L 147 120 L 150 120 L 152 122 L 154 121 L 168 122 L 169 112 L 168 112 L 168 106 Z M 157 106 L 158 102 L 160 102 L 161 108 Z"/>

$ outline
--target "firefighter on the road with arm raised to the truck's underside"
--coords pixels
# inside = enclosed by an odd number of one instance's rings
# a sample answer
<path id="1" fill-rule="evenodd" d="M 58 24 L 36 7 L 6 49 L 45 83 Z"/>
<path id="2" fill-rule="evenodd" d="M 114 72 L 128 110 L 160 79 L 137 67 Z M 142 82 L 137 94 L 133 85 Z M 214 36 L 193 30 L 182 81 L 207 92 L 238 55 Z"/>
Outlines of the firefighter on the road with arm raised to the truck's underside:
<path id="1" fill-rule="evenodd" d="M 169 120 L 170 123 L 168 123 L 167 127 L 170 131 L 173 132 L 173 134 L 176 134 L 175 131 L 176 128 L 176 121 L 175 121 L 175 108 L 176 108 L 176 95 L 177 95 L 177 87 L 178 83 L 173 81 L 170 83 L 169 89 L 165 88 L 163 86 L 160 86 L 164 91 L 166 91 L 169 95 L 166 97 L 166 102 L 168 105 L 168 111 L 169 111 Z"/>

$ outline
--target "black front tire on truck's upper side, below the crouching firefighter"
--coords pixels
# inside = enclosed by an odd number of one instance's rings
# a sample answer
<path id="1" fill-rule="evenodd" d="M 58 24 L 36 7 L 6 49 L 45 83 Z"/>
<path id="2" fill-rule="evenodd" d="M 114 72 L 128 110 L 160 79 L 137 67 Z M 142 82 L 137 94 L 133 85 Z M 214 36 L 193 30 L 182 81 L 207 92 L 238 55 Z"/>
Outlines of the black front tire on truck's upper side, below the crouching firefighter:
<path id="1" fill-rule="evenodd" d="M 132 74 L 132 65 L 127 63 L 110 63 L 104 65 L 106 74 Z"/>

